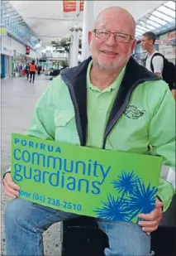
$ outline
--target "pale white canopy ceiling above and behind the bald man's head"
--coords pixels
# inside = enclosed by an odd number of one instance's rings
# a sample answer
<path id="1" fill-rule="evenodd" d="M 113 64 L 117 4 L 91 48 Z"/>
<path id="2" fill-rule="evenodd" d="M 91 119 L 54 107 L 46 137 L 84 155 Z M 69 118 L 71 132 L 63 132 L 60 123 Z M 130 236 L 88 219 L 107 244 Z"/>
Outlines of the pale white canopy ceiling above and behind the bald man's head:
<path id="1" fill-rule="evenodd" d="M 45 46 L 50 46 L 52 40 L 69 36 L 69 29 L 74 26 L 75 14 L 72 13 L 69 17 L 65 17 L 63 1 L 9 2 Z M 106 7 L 120 6 L 126 8 L 135 17 L 136 21 L 139 21 L 165 2 L 168 1 L 94 1 L 94 13 L 97 17 L 98 13 Z M 82 23 L 83 12 L 78 17 L 78 26 L 82 27 Z M 140 32 L 138 31 L 136 36 L 139 36 Z"/>

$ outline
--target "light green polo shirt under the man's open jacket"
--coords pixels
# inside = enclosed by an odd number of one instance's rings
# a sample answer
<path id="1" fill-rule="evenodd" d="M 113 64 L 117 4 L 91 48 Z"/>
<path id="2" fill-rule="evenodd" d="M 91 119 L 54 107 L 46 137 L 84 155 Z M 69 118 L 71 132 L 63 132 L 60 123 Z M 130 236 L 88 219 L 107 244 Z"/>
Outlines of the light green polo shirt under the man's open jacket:
<path id="1" fill-rule="evenodd" d="M 93 86 L 90 80 L 90 70 L 93 61 L 88 65 L 87 71 L 87 111 L 88 111 L 88 136 L 87 147 L 102 147 L 103 135 L 107 124 L 107 118 L 112 109 L 112 104 L 117 95 L 126 66 L 114 80 L 112 85 L 100 90 Z"/>

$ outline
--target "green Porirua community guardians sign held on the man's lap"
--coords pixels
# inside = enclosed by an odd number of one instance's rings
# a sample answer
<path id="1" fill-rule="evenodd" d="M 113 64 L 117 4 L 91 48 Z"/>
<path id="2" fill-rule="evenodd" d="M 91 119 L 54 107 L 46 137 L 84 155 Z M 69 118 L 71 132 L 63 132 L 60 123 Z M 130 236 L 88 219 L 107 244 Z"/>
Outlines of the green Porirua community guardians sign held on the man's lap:
<path id="1" fill-rule="evenodd" d="M 77 215 L 136 223 L 155 208 L 161 164 L 161 157 L 12 134 L 19 196 Z"/>

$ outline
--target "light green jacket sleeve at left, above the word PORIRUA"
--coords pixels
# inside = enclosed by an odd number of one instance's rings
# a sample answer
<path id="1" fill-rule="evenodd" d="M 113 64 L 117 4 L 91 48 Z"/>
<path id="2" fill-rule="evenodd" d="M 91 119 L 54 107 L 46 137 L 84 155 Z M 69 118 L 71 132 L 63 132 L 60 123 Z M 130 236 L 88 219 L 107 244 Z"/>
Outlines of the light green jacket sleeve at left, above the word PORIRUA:
<path id="1" fill-rule="evenodd" d="M 46 140 L 55 140 L 55 106 L 53 83 L 45 90 L 36 104 L 32 117 L 31 127 L 26 130 L 26 135 Z M 11 167 L 4 173 L 4 176 L 11 172 Z"/>

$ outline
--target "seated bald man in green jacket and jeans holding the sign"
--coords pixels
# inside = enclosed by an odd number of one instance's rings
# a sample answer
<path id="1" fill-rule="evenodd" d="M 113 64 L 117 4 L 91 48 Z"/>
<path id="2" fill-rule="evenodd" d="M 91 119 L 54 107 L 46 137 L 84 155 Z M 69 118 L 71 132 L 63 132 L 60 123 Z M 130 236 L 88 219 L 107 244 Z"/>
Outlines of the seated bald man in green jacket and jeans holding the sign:
<path id="1" fill-rule="evenodd" d="M 163 80 L 131 57 L 135 33 L 135 21 L 126 10 L 110 7 L 101 12 L 93 31 L 88 32 L 92 58 L 64 70 L 52 81 L 36 105 L 26 134 L 161 156 L 170 167 L 171 182 L 174 99 Z M 3 181 L 6 195 L 16 198 L 19 187 L 10 173 Z M 155 210 L 140 215 L 144 221 L 139 225 L 98 220 L 109 239 L 105 255 L 153 255 L 150 233 L 157 229 L 162 209 L 167 210 L 174 195 L 174 184 L 169 181 L 160 180 Z M 12 200 L 4 213 L 7 255 L 43 255 L 42 232 L 55 222 L 76 217 L 20 198 Z"/>

